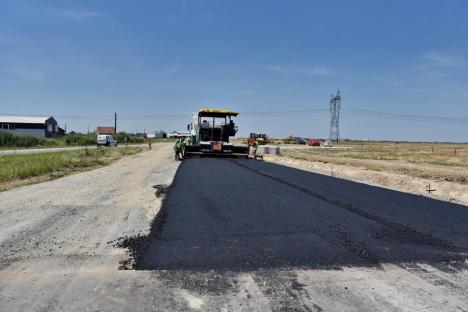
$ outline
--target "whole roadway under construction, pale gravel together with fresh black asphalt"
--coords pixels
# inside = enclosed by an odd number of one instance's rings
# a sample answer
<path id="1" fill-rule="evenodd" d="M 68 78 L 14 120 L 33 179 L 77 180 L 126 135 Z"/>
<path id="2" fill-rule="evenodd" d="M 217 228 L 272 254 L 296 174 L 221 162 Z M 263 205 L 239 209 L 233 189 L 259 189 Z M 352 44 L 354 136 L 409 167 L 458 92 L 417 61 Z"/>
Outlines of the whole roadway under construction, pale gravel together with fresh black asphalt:
<path id="1" fill-rule="evenodd" d="M 468 311 L 466 206 L 210 158 L 182 163 L 153 220 L 171 156 L 0 193 L 0 307 Z"/>

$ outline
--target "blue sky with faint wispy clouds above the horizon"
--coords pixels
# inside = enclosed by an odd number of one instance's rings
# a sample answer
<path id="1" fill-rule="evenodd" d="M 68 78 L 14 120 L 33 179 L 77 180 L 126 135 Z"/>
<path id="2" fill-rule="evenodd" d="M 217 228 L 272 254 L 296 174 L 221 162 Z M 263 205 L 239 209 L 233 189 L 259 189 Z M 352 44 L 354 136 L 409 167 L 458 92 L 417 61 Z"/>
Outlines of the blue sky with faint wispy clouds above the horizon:
<path id="1" fill-rule="evenodd" d="M 338 89 L 343 138 L 468 141 L 468 1 L 0 0 L 0 114 L 326 137 Z"/>

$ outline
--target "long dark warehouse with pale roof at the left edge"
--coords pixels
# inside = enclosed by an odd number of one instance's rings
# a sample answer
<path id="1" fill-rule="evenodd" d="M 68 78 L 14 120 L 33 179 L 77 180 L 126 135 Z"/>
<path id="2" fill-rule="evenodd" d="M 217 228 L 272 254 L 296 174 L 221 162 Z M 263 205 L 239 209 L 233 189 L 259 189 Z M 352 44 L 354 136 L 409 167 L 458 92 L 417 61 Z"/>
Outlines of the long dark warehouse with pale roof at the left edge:
<path id="1" fill-rule="evenodd" d="M 0 116 L 0 131 L 45 138 L 57 136 L 59 127 L 54 117 Z"/>

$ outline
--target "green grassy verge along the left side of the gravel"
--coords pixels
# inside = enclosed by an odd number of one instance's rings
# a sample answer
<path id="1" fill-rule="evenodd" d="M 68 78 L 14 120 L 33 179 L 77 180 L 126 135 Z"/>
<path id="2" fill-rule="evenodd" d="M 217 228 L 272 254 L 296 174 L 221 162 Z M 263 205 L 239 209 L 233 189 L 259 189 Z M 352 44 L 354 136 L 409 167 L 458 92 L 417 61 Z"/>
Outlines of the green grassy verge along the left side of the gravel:
<path id="1" fill-rule="evenodd" d="M 0 156 L 0 191 L 104 166 L 140 151 L 126 147 Z"/>

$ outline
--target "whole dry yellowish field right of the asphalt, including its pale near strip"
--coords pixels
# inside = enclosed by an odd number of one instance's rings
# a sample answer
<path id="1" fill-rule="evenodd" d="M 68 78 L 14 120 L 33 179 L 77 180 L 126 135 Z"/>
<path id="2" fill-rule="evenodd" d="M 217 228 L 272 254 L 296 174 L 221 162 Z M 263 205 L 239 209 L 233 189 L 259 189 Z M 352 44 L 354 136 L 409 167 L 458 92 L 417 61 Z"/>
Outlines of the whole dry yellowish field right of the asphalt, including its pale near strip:
<path id="1" fill-rule="evenodd" d="M 468 144 L 340 142 L 334 148 L 283 149 L 282 156 L 468 183 Z"/>

